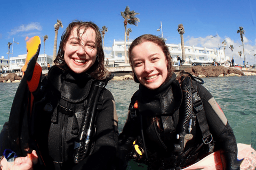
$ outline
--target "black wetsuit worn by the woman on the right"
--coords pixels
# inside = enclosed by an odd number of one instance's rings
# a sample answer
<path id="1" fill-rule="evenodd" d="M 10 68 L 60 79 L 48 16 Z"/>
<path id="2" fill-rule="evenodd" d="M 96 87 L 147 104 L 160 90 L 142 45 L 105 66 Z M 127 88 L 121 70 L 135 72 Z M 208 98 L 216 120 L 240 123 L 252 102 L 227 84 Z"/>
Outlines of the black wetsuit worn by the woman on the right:
<path id="1" fill-rule="evenodd" d="M 192 81 L 192 85 L 202 99 L 207 124 L 215 145 L 211 142 L 210 145 L 198 147 L 203 143 L 202 132 L 193 110 L 191 131 L 193 138 L 186 143 L 182 152 L 174 151 L 183 113 L 182 90 L 175 78 L 176 75 L 173 74 L 169 81 L 155 90 L 149 90 L 140 84 L 139 90 L 133 95 L 123 132 L 118 138 L 118 158 L 123 164 L 119 165 L 119 169 L 125 168 L 125 162 L 131 157 L 147 164 L 149 169 L 182 168 L 210 154 L 209 149 L 213 146 L 213 151 L 222 149 L 226 152 L 227 169 L 232 169 L 231 165 L 237 163 L 237 145 L 233 130 L 210 92 L 196 81 Z M 136 100 L 138 100 L 138 109 L 133 107 Z M 141 126 L 148 160 L 143 147 Z M 134 141 L 144 149 L 142 156 L 134 154 L 132 147 Z"/>

